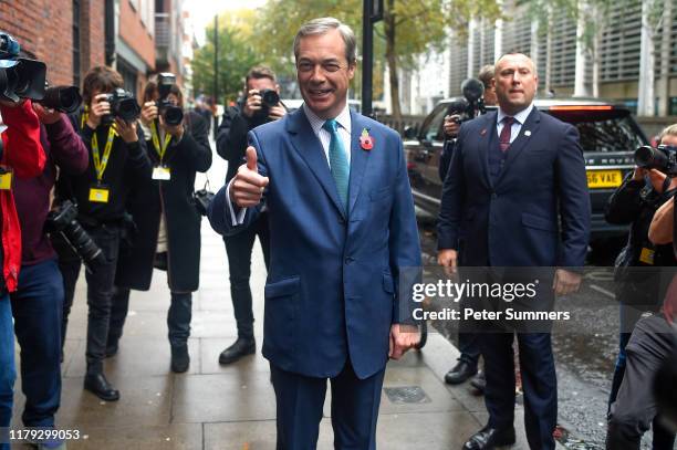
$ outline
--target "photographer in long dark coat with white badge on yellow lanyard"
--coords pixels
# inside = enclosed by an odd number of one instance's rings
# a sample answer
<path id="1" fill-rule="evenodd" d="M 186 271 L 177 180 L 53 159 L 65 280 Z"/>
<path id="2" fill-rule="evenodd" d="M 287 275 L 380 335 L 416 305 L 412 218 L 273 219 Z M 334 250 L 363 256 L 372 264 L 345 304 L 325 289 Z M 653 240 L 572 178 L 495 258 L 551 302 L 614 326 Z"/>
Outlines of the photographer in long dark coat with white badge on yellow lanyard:
<path id="1" fill-rule="evenodd" d="M 160 96 L 160 91 L 163 94 Z M 192 198 L 195 176 L 211 166 L 208 125 L 195 112 L 183 113 L 184 96 L 175 84 L 149 82 L 142 124 L 153 161 L 153 177 L 127 202 L 137 226 L 133 245 L 121 248 L 107 354 L 117 352 L 129 304 L 129 290 L 147 291 L 154 265 L 167 271 L 171 301 L 167 327 L 171 370 L 188 369 L 191 293 L 200 271 L 201 216 Z"/>

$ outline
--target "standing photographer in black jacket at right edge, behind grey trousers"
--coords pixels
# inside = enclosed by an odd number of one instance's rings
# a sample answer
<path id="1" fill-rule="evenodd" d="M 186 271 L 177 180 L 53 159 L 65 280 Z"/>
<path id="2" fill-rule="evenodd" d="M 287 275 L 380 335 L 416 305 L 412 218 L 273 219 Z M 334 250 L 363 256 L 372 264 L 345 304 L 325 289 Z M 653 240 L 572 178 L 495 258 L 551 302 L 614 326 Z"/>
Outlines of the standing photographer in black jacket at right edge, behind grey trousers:
<path id="1" fill-rule="evenodd" d="M 677 125 L 665 128 L 659 142 L 667 146 L 677 145 Z M 605 218 L 610 223 L 631 224 L 627 244 L 616 259 L 616 300 L 621 303 L 621 334 L 608 399 L 610 410 L 618 410 L 618 407 L 613 405 L 624 383 L 627 370 L 626 347 L 631 336 L 637 332 L 635 326 L 639 326 L 638 321 L 644 312 L 658 311 L 666 295 L 667 283 L 662 278 L 660 268 L 677 265 L 671 245 L 655 244 L 649 240 L 649 226 L 656 210 L 665 203 L 673 203 L 668 200 L 675 196 L 676 190 L 677 179 L 671 179 L 655 168 L 647 170 L 636 167 L 612 195 L 606 207 Z M 640 333 L 646 331 L 643 326 L 638 329 Z M 658 420 L 654 420 L 653 428 L 654 448 L 671 449 L 674 435 L 665 430 Z"/>

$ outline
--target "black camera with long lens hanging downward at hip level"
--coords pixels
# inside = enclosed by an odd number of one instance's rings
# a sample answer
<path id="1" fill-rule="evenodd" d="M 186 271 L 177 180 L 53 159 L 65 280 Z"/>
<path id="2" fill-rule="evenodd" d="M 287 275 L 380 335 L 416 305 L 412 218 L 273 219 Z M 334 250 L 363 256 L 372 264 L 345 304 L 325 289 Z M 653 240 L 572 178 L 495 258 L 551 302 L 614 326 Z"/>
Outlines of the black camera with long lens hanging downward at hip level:
<path id="1" fill-rule="evenodd" d="M 71 200 L 64 200 L 50 211 L 44 229 L 49 233 L 61 233 L 90 270 L 106 262 L 96 242 L 77 222 L 77 207 Z"/>

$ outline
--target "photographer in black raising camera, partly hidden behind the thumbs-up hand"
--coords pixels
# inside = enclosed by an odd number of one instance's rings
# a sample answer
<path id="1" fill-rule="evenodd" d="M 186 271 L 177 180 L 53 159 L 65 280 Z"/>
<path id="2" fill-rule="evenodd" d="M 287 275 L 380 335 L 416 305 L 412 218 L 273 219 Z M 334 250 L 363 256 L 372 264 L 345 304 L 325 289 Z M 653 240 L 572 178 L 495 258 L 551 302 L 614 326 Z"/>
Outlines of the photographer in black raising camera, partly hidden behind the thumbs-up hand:
<path id="1" fill-rule="evenodd" d="M 287 114 L 287 109 L 278 103 L 279 91 L 280 86 L 277 83 L 275 74 L 270 69 L 257 66 L 252 67 L 247 74 L 244 81 L 247 95 L 239 102 L 238 106 L 228 108 L 223 115 L 223 122 L 219 126 L 217 137 L 217 151 L 228 161 L 226 184 L 235 177 L 238 167 L 243 161 L 244 150 L 247 149 L 247 133 Z M 277 97 L 275 104 L 264 103 L 264 100 L 268 100 L 267 97 L 273 97 L 272 100 Z M 230 295 L 232 296 L 238 324 L 238 339 L 221 352 L 219 364 L 235 363 L 240 357 L 256 352 L 249 278 L 251 275 L 251 252 L 257 236 L 261 242 L 263 260 L 268 269 L 270 262 L 268 212 L 262 212 L 256 223 L 246 231 L 237 236 L 223 237 L 230 271 Z"/>

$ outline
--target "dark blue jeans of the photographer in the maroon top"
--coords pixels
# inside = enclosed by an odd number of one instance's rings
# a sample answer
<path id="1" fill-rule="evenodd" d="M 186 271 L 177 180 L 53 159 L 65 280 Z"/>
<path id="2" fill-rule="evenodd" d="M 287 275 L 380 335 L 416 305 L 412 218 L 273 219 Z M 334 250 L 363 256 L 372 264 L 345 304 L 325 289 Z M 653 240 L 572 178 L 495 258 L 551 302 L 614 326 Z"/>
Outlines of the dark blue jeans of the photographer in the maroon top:
<path id="1" fill-rule="evenodd" d="M 53 427 L 61 400 L 63 280 L 55 260 L 24 265 L 11 294 L 14 332 L 21 346 L 23 425 Z"/>

